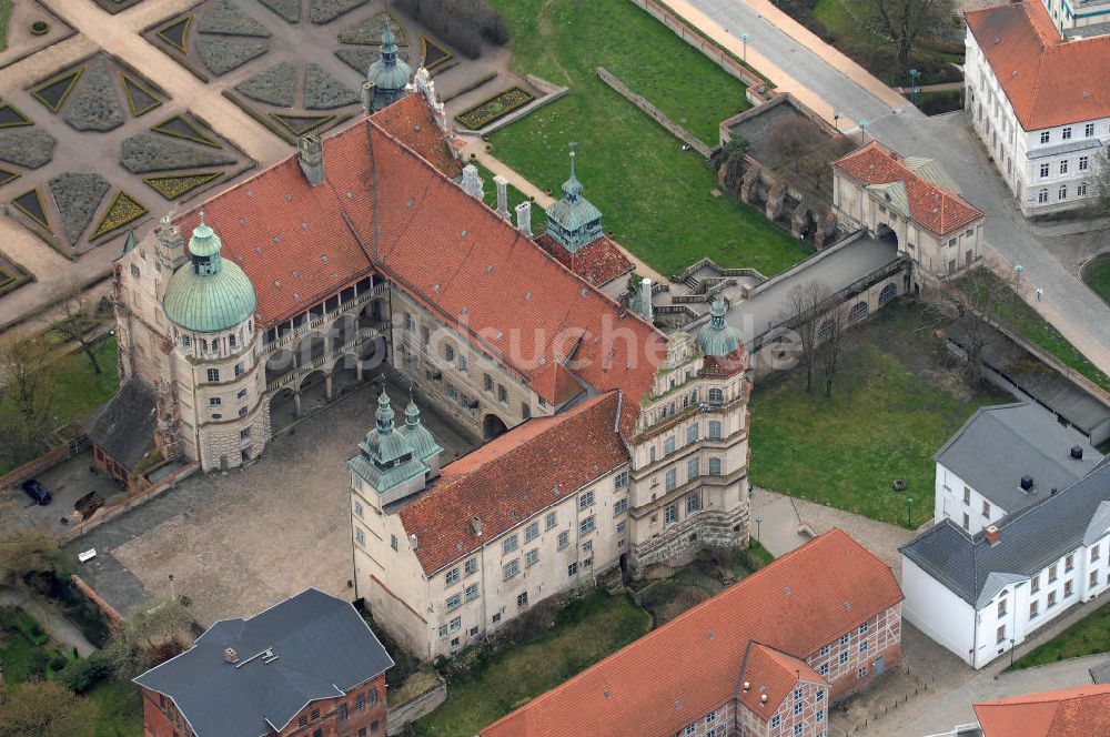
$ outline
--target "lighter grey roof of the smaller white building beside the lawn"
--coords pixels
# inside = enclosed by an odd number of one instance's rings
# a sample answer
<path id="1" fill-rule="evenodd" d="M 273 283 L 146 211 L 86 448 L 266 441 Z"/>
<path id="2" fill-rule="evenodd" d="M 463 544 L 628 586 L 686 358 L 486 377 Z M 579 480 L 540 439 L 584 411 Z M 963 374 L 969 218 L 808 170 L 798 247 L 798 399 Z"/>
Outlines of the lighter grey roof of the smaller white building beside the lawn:
<path id="1" fill-rule="evenodd" d="M 1074 445 L 1083 450 L 1081 461 L 1071 457 Z M 1053 488 L 1071 486 L 1098 465 L 1102 454 L 1039 404 L 1016 403 L 978 410 L 934 460 L 1011 513 L 1047 497 Z M 1027 474 L 1033 478 L 1030 492 L 1020 486 Z"/>

